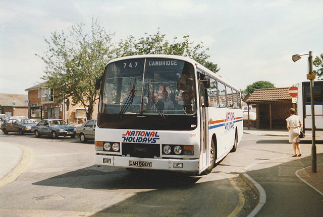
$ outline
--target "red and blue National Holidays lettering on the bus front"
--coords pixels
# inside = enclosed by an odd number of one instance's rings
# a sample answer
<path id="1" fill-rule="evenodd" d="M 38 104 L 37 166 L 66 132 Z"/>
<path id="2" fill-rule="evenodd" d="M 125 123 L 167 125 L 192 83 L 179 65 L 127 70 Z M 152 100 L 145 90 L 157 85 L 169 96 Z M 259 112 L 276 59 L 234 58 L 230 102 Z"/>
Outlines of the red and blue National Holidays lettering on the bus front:
<path id="1" fill-rule="evenodd" d="M 127 130 L 122 134 L 123 142 L 156 143 L 158 131 Z"/>

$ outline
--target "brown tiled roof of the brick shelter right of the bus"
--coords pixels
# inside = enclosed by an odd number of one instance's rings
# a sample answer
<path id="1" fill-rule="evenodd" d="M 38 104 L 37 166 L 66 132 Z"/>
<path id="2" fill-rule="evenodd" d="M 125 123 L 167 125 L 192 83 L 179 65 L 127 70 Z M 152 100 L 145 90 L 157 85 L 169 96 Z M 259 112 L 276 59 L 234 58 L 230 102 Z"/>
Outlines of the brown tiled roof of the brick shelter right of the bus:
<path id="1" fill-rule="evenodd" d="M 288 89 L 289 88 L 257 89 L 250 95 L 246 102 L 291 100 L 292 97 L 288 94 Z"/>

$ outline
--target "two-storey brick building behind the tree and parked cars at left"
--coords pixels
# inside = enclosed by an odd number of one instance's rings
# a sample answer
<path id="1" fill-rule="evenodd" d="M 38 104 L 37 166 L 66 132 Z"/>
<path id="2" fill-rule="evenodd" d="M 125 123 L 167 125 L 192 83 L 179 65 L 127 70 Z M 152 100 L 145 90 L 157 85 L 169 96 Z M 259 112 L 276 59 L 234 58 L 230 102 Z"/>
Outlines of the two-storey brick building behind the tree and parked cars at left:
<path id="1" fill-rule="evenodd" d="M 81 105 L 69 106 L 67 111 L 66 100 L 58 102 L 53 96 L 53 90 L 45 83 L 26 89 L 28 92 L 28 117 L 31 119 L 62 118 L 69 124 L 81 124 L 86 118 L 85 109 Z M 72 99 L 69 99 L 72 102 Z M 97 105 L 94 106 L 93 117 L 97 116 Z"/>

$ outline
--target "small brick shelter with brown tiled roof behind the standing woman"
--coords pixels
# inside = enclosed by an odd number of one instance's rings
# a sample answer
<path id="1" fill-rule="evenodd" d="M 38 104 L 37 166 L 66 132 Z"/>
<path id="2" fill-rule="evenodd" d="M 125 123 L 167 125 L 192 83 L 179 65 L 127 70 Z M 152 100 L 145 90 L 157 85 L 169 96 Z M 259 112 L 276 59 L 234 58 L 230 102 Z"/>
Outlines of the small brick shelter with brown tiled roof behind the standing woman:
<path id="1" fill-rule="evenodd" d="M 290 116 L 289 109 L 297 106 L 292 103 L 288 89 L 257 89 L 250 94 L 246 103 L 256 105 L 256 128 L 286 128 L 286 118 Z"/>

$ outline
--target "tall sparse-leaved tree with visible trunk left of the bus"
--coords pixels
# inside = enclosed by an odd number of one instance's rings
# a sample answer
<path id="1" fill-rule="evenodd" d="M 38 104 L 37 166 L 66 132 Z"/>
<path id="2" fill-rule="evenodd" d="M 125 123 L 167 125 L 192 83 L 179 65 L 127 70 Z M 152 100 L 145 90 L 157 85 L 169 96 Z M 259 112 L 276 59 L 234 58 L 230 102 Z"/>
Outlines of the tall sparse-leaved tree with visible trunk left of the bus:
<path id="1" fill-rule="evenodd" d="M 54 96 L 62 102 L 72 97 L 72 105 L 81 103 L 87 119 L 92 119 L 93 106 L 99 92 L 95 81 L 100 78 L 106 62 L 113 57 L 114 34 L 106 34 L 97 20 L 92 19 L 90 33 L 83 32 L 84 24 L 72 26 L 69 35 L 51 33 L 45 39 L 48 50 L 39 56 L 46 64 L 46 86 L 54 90 Z"/>

